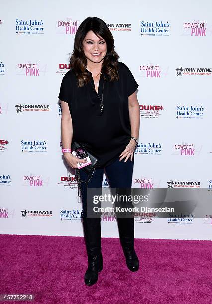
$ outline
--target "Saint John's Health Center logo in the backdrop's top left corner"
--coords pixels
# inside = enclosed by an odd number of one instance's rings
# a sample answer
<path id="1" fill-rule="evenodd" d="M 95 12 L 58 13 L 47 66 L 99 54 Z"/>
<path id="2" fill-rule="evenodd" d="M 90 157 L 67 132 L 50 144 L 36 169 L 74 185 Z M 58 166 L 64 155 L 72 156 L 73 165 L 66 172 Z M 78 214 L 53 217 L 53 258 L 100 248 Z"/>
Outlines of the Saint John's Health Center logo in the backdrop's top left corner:
<path id="1" fill-rule="evenodd" d="M 16 34 L 44 34 L 44 22 L 42 19 L 16 19 L 15 26 L 16 26 Z"/>

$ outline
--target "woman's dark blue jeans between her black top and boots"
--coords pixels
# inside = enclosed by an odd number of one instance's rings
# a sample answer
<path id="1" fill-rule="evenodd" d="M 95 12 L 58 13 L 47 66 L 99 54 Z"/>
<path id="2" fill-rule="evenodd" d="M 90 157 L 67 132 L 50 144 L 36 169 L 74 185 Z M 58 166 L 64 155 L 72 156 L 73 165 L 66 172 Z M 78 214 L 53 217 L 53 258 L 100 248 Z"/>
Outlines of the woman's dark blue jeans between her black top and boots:
<path id="1" fill-rule="evenodd" d="M 132 186 L 134 155 L 132 161 L 128 159 L 124 162 L 124 160 L 125 158 L 119 161 L 118 158 L 111 165 L 104 168 L 111 188 L 131 188 Z M 104 169 L 95 169 L 91 180 L 88 182 L 88 188 L 102 188 Z M 83 169 L 80 169 L 80 178 L 82 180 L 88 179 L 88 175 Z M 93 202 L 87 201 L 87 186 L 85 183 L 81 183 L 81 194 L 83 214 L 87 215 L 87 204 L 93 204 Z"/>

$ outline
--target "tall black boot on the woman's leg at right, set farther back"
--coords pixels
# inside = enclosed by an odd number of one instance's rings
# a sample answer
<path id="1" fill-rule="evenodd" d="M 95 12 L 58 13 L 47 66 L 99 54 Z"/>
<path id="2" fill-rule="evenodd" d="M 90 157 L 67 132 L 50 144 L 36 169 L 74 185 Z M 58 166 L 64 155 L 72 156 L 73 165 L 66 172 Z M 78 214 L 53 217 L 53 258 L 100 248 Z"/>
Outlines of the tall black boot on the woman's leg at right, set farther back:
<path id="1" fill-rule="evenodd" d="M 126 258 L 126 265 L 131 271 L 139 269 L 139 260 L 134 249 L 134 218 L 117 217 L 120 243 Z"/>

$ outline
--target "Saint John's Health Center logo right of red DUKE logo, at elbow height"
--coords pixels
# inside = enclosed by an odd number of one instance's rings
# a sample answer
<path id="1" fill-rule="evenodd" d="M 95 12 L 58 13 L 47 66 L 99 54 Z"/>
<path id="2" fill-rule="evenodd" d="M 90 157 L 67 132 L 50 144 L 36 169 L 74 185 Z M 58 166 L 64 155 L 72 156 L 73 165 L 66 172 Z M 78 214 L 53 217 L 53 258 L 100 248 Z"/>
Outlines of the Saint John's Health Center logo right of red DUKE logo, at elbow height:
<path id="1" fill-rule="evenodd" d="M 177 106 L 176 118 L 203 118 L 204 107 L 203 106 Z"/>

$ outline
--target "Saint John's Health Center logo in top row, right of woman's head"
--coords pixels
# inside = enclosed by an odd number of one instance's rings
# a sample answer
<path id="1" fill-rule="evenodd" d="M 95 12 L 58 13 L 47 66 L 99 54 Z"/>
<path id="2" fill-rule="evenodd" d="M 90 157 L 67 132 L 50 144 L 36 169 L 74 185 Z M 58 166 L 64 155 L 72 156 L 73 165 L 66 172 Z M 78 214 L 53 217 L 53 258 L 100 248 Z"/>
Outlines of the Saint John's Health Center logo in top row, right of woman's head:
<path id="1" fill-rule="evenodd" d="M 169 21 L 141 21 L 141 36 L 169 36 Z"/>

